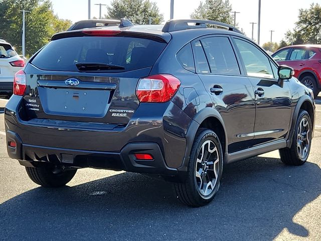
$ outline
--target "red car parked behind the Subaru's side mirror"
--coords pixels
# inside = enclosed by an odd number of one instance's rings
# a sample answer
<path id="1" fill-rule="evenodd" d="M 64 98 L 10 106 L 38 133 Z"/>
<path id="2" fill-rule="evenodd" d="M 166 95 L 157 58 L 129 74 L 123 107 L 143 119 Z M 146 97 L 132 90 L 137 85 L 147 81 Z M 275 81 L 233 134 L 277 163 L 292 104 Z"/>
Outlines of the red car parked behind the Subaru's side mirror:
<path id="1" fill-rule="evenodd" d="M 321 90 L 321 45 L 292 45 L 279 49 L 272 57 L 280 65 L 294 69 L 294 77 L 313 90 Z"/>

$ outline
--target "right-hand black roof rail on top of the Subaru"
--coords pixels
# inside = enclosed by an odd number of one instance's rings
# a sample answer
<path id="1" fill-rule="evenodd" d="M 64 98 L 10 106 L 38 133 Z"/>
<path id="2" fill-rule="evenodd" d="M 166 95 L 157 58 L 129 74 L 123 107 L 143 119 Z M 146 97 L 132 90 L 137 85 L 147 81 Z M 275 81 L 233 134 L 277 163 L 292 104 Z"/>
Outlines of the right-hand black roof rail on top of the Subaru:
<path id="1" fill-rule="evenodd" d="M 193 23 L 195 25 L 189 25 L 189 23 Z M 169 20 L 166 22 L 165 26 L 163 27 L 162 32 L 173 32 L 173 31 L 179 31 L 184 29 L 204 29 L 204 28 L 207 28 L 206 26 L 207 24 L 225 28 L 229 31 L 234 31 L 239 34 L 243 34 L 240 30 L 233 27 L 232 25 L 224 24 L 217 21 L 200 20 L 200 19 Z"/>

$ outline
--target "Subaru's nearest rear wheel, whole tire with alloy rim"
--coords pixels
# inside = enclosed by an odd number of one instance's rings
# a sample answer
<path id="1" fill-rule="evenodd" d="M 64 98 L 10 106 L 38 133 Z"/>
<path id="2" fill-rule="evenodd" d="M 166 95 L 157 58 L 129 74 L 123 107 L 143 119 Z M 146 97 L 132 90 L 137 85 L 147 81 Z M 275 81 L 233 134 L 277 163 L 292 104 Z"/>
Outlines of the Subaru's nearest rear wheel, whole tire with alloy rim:
<path id="1" fill-rule="evenodd" d="M 205 150 L 203 154 L 202 150 Z M 199 170 L 198 177 L 196 169 Z M 174 184 L 178 199 L 183 204 L 193 207 L 208 204 L 220 187 L 222 171 L 223 152 L 219 138 L 211 130 L 198 130 L 192 146 L 186 178 L 182 183 Z M 201 178 L 205 176 L 205 181 L 209 180 L 207 185 Z"/>

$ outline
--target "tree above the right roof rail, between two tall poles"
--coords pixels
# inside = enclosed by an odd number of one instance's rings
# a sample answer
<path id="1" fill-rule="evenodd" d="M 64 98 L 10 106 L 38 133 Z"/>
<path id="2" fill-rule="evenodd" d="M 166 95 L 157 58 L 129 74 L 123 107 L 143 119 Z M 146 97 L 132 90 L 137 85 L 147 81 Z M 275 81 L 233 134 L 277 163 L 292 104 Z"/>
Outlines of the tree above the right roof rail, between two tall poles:
<path id="1" fill-rule="evenodd" d="M 192 19 L 214 20 L 232 25 L 234 20 L 231 16 L 232 6 L 229 0 L 206 0 L 191 15 Z"/>

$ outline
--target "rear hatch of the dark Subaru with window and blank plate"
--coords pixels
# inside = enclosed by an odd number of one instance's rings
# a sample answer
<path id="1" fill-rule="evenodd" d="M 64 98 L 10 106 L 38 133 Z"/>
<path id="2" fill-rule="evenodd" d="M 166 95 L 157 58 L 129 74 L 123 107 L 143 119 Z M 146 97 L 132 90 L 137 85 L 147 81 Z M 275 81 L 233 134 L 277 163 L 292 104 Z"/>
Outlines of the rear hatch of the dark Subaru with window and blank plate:
<path id="1" fill-rule="evenodd" d="M 139 104 L 137 82 L 166 45 L 154 35 L 110 30 L 54 36 L 25 69 L 28 121 L 90 129 L 127 125 Z"/>

